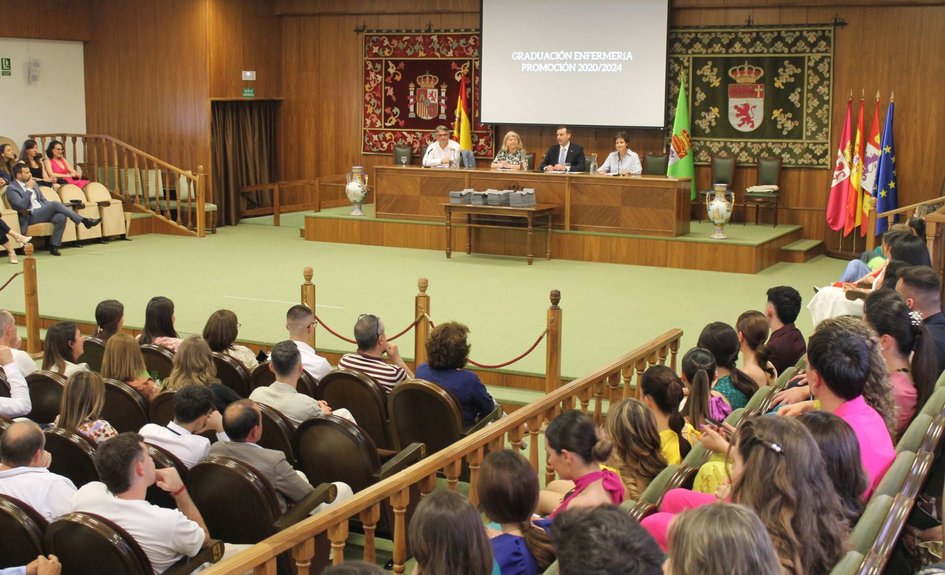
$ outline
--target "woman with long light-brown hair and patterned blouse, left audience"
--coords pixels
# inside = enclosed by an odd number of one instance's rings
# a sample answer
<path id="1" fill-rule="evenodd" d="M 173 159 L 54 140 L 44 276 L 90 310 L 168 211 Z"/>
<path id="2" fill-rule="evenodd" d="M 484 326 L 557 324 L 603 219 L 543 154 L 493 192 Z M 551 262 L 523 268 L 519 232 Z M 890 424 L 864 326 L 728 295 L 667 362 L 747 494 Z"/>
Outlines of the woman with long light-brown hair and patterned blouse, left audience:
<path id="1" fill-rule="evenodd" d="M 77 372 L 69 377 L 62 390 L 60 414 L 53 424 L 74 433 L 81 433 L 102 444 L 118 435 L 109 422 L 99 418 L 105 406 L 105 382 L 95 372 Z"/>

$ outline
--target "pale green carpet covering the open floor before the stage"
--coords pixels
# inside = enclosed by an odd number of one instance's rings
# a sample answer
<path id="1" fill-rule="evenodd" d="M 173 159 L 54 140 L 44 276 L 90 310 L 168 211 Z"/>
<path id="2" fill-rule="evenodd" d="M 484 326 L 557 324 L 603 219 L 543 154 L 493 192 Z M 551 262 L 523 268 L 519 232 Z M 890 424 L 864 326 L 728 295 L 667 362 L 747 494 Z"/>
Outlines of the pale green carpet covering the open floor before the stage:
<path id="1" fill-rule="evenodd" d="M 222 227 L 203 239 L 140 235 L 66 248 L 61 257 L 39 252 L 37 259 L 43 316 L 94 322 L 95 305 L 113 298 L 125 304 L 127 325 L 140 327 L 147 300 L 164 295 L 176 304 L 181 333 L 200 333 L 213 311 L 229 308 L 242 323 L 240 340 L 266 343 L 285 338 L 285 310 L 299 302 L 305 266 L 315 269 L 318 316 L 348 336 L 362 313 L 380 315 L 388 333 L 399 332 L 414 320 L 417 279 L 427 277 L 433 320 L 468 324 L 472 358 L 482 363 L 524 352 L 544 329 L 548 292 L 558 288 L 562 375 L 569 377 L 673 327 L 685 331 L 684 351 L 706 323 L 733 323 L 747 309 L 762 309 L 768 287 L 797 287 L 806 305 L 811 287 L 834 281 L 845 265 L 817 257 L 755 275 L 569 260 L 525 266 L 520 257 L 458 254 L 448 260 L 432 250 L 310 242 L 293 227 L 264 225 Z M 23 312 L 22 277 L 0 292 L 0 307 Z M 811 333 L 806 309 L 798 325 Z M 318 348 L 352 350 L 322 328 L 317 333 Z M 413 357 L 412 337 L 396 343 L 404 357 Z M 543 345 L 509 369 L 543 375 Z"/>

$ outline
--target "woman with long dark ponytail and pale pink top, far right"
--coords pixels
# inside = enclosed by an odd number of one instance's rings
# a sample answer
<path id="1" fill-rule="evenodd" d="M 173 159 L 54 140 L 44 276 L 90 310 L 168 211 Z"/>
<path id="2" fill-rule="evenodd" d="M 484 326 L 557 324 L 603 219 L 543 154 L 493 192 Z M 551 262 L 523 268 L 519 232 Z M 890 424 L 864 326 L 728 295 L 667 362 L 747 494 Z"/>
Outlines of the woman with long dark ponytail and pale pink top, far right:
<path id="1" fill-rule="evenodd" d="M 863 322 L 879 335 L 892 395 L 899 406 L 896 432 L 901 435 L 935 388 L 935 341 L 919 312 L 909 310 L 892 289 L 869 294 L 863 305 Z"/>

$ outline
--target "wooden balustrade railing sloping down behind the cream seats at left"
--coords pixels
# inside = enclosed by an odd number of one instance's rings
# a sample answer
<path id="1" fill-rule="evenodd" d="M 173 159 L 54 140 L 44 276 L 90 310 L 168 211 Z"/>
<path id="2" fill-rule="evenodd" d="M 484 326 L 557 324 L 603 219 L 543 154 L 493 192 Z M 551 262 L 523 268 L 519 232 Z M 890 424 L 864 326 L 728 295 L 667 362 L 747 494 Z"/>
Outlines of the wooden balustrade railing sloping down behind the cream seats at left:
<path id="1" fill-rule="evenodd" d="M 126 211 L 160 218 L 177 235 L 203 237 L 208 219 L 215 232 L 214 214 L 206 211 L 206 203 L 213 198 L 203 166 L 192 173 L 107 135 L 39 133 L 29 137 L 43 149 L 47 141 L 62 142 L 66 158 L 81 167 L 82 177 L 102 183 L 125 202 Z"/>

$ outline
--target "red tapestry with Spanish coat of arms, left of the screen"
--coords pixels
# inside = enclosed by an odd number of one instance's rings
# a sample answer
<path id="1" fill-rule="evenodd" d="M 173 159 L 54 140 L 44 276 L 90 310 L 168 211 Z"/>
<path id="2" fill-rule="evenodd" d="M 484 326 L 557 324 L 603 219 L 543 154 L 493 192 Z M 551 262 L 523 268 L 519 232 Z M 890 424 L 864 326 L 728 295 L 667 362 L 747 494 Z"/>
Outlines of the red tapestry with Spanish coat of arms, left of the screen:
<path id="1" fill-rule="evenodd" d="M 388 154 L 403 145 L 419 154 L 437 126 L 452 132 L 464 76 L 471 87 L 472 152 L 492 158 L 492 129 L 479 123 L 479 33 L 367 31 L 362 151 Z"/>

